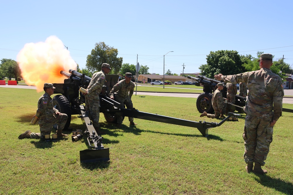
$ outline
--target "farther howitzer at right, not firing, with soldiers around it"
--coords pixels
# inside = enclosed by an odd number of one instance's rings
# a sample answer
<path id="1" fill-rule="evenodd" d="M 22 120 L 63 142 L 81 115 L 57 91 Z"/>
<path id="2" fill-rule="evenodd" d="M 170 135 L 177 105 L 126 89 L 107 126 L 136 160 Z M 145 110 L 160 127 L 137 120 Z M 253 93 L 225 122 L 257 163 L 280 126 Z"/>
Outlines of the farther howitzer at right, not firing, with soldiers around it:
<path id="1" fill-rule="evenodd" d="M 203 113 L 206 111 L 207 113 L 212 114 L 214 112 L 213 106 L 212 106 L 212 93 L 216 90 L 216 86 L 218 83 L 221 83 L 220 81 L 207 78 L 205 76 L 197 75 L 197 77 L 191 77 L 187 76 L 187 78 L 195 80 L 196 86 L 203 87 L 203 93 L 201 93 L 196 100 L 196 107 L 197 110 L 200 113 Z M 222 82 L 223 83 L 223 82 Z M 224 83 L 223 83 L 224 84 Z M 227 88 L 224 84 L 224 89 L 221 91 L 224 98 L 227 97 Z M 239 113 L 244 112 L 244 106 L 246 104 L 246 97 L 242 97 L 240 95 L 235 96 L 235 103 L 228 103 L 227 106 L 230 106 L 229 108 L 234 111 L 238 111 Z M 291 112 L 293 113 L 292 109 L 283 108 L 283 112 Z"/>

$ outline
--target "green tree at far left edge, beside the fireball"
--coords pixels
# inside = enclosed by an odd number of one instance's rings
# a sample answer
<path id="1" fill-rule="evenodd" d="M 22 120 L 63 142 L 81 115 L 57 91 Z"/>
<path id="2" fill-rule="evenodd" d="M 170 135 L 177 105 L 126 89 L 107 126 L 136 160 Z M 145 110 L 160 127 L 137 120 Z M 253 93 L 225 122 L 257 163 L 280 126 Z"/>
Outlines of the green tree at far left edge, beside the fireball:
<path id="1" fill-rule="evenodd" d="M 11 78 L 14 76 L 16 82 L 18 83 L 17 77 L 21 75 L 21 70 L 15 60 L 6 58 L 1 59 L 0 69 L 1 73 L 8 77 L 9 80 L 11 80 Z"/>

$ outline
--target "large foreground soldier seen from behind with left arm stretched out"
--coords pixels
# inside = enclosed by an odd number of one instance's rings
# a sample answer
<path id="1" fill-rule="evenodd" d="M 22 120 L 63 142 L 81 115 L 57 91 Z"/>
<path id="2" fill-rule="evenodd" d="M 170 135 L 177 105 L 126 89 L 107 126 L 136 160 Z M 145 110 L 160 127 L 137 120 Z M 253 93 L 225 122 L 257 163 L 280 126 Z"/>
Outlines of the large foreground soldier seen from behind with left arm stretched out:
<path id="1" fill-rule="evenodd" d="M 248 173 L 267 173 L 261 166 L 265 165 L 269 153 L 273 126 L 282 115 L 283 82 L 279 75 L 270 70 L 272 58 L 272 54 L 261 54 L 258 60 L 260 70 L 214 76 L 225 82 L 247 83 L 249 94 L 244 108 L 246 117 L 243 139 Z"/>

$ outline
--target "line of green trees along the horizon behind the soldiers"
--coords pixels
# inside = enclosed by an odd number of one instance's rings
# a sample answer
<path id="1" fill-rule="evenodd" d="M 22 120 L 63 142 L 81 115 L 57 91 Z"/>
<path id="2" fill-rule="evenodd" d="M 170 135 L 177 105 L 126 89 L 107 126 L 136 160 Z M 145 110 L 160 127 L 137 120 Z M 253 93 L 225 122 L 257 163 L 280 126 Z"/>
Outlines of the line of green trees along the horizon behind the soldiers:
<path id="1" fill-rule="evenodd" d="M 257 57 L 254 58 L 251 55 L 239 55 L 237 51 L 228 50 L 218 50 L 211 51 L 207 55 L 207 64 L 200 65 L 200 74 L 205 75 L 209 78 L 214 78 L 214 75 L 222 73 L 223 75 L 234 75 L 238 73 L 243 73 L 252 70 L 259 70 L 259 65 L 257 60 L 263 52 L 258 51 Z M 122 64 L 123 58 L 117 57 L 118 49 L 106 45 L 104 42 L 99 42 L 95 44 L 95 48 L 92 49 L 91 54 L 87 56 L 86 68 L 79 68 L 77 64 L 77 72 L 83 73 L 89 77 L 93 73 L 100 71 L 103 63 L 108 63 L 111 65 L 110 74 L 125 75 L 125 73 L 132 73 L 135 75 L 136 69 L 134 64 L 124 63 Z M 273 61 L 271 67 L 272 72 L 280 75 L 282 79 L 286 78 L 286 74 L 292 74 L 292 67 L 285 63 L 283 59 L 278 61 Z M 282 71 L 282 72 L 280 72 Z M 147 65 L 140 65 L 139 74 L 150 74 L 149 67 Z M 171 73 L 168 69 L 166 75 L 175 75 L 176 73 Z M 12 59 L 1 59 L 0 64 L 0 80 L 7 77 L 11 80 L 12 77 L 21 77 L 21 70 L 19 68 L 18 62 Z"/>

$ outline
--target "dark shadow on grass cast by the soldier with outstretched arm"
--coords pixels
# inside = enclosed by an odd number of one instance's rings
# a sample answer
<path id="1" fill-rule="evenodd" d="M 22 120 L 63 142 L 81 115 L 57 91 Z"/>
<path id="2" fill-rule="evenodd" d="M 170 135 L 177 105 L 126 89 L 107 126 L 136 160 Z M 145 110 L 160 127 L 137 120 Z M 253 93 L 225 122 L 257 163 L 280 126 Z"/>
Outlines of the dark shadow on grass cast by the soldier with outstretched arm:
<path id="1" fill-rule="evenodd" d="M 269 177 L 268 175 L 257 175 L 255 180 L 265 187 L 273 188 L 276 191 L 280 191 L 284 194 L 293 194 L 293 184 L 285 182 L 277 178 Z"/>

